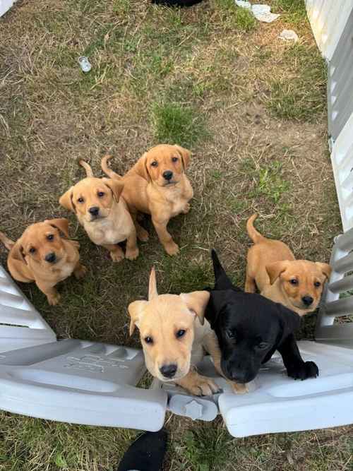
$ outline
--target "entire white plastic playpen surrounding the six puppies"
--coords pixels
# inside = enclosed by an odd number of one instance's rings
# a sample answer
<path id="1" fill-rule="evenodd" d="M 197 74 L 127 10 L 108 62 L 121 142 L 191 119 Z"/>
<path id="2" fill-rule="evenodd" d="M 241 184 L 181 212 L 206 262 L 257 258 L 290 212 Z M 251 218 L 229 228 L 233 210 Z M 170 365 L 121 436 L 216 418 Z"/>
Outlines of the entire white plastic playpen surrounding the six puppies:
<path id="1" fill-rule="evenodd" d="M 13 0 L 0 0 L 0 16 Z M 166 410 L 192 419 L 220 413 L 233 436 L 353 424 L 353 0 L 306 0 L 318 47 L 328 62 L 328 129 L 343 234 L 333 243 L 315 342 L 299 342 L 318 378 L 293 381 L 280 357 L 265 364 L 254 390 L 197 398 L 154 381 L 140 350 L 56 335 L 0 267 L 0 408 L 78 424 L 155 431 Z M 11 14 L 11 13 L 8 13 Z M 1 20 L 0 20 L 1 21 Z M 204 374 L 215 375 L 207 359 Z M 215 375 L 216 376 L 216 375 Z"/>

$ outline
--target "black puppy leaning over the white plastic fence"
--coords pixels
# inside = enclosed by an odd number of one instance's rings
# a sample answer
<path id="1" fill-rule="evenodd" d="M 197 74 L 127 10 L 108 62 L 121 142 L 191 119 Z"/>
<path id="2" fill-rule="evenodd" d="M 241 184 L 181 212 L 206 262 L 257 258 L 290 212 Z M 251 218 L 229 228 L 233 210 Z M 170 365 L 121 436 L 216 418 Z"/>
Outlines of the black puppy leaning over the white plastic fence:
<path id="1" fill-rule="evenodd" d="M 249 383 L 278 350 L 288 376 L 302 380 L 316 378 L 318 366 L 304 362 L 293 335 L 299 328 L 299 315 L 261 294 L 235 287 L 215 250 L 212 259 L 215 288 L 210 290 L 205 317 L 217 335 L 225 376 L 237 383 Z"/>

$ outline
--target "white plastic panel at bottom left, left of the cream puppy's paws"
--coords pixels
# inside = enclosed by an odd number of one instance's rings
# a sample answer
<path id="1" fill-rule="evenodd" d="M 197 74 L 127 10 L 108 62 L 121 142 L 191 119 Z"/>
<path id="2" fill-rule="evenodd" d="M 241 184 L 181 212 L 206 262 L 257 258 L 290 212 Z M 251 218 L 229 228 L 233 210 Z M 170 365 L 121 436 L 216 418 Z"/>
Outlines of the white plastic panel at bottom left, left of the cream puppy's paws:
<path id="1" fill-rule="evenodd" d="M 136 388 L 142 350 L 61 340 L 0 355 L 0 407 L 74 424 L 157 431 L 167 407 L 163 390 Z"/>

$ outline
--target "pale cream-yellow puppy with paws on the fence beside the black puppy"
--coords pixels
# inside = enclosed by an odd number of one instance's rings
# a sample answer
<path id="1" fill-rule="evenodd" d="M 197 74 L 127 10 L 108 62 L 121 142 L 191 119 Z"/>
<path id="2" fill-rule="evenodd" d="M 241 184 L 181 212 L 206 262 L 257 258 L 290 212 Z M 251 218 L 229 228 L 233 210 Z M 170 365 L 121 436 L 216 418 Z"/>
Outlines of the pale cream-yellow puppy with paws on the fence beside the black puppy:
<path id="1" fill-rule="evenodd" d="M 137 326 L 150 374 L 160 381 L 174 381 L 194 395 L 212 395 L 219 389 L 195 369 L 205 351 L 222 375 L 217 338 L 203 317 L 209 298 L 207 291 L 158 295 L 152 268 L 148 301 L 135 301 L 128 306 L 130 335 Z M 246 392 L 244 385 L 230 384 L 234 390 Z"/>

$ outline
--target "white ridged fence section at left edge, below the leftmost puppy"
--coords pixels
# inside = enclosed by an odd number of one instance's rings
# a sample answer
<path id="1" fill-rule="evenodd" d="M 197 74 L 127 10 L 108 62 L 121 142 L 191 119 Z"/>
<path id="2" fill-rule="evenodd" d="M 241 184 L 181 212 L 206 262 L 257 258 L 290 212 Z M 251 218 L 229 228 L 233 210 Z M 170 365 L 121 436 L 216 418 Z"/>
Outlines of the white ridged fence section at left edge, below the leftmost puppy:
<path id="1" fill-rule="evenodd" d="M 0 266 L 0 352 L 55 340 L 54 331 Z"/>

